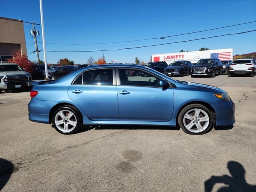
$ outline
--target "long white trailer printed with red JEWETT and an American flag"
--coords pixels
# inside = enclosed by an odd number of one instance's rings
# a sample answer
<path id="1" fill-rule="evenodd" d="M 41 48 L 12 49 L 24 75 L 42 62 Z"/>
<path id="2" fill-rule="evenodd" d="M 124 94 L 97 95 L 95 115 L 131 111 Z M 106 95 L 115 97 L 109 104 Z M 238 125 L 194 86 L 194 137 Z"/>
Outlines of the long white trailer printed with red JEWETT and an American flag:
<path id="1" fill-rule="evenodd" d="M 188 60 L 192 63 L 196 63 L 200 59 L 208 58 L 219 58 L 221 61 L 233 60 L 233 49 L 216 49 L 152 55 L 152 61 L 165 61 L 167 64 L 180 60 Z"/>

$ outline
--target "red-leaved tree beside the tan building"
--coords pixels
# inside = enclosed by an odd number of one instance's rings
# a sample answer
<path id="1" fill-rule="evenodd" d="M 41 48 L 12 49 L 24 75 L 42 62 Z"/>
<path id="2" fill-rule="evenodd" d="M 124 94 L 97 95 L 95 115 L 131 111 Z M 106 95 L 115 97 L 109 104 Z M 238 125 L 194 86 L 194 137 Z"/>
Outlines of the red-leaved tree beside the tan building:
<path id="1" fill-rule="evenodd" d="M 24 68 L 26 72 L 29 72 L 30 74 L 33 73 L 34 68 L 32 62 L 28 59 L 28 56 L 22 55 L 20 51 L 13 52 L 12 58 L 8 59 L 8 63 L 16 63 Z"/>

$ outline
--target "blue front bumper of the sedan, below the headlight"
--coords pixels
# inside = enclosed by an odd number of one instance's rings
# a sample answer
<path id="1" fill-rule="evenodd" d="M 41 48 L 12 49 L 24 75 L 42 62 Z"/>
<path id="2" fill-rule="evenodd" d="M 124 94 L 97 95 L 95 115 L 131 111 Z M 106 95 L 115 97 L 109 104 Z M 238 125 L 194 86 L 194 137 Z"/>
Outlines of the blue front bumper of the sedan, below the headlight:
<path id="1" fill-rule="evenodd" d="M 232 100 L 220 100 L 211 105 L 216 113 L 216 121 L 214 126 L 230 126 L 233 125 L 235 120 L 236 105 Z"/>

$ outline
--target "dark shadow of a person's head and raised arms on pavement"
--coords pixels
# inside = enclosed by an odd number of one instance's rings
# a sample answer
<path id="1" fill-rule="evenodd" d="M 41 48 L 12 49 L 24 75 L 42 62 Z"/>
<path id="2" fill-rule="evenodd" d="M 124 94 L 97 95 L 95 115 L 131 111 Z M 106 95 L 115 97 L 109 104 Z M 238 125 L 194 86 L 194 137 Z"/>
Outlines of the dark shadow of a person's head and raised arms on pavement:
<path id="1" fill-rule="evenodd" d="M 211 192 L 215 184 L 225 184 L 226 186 L 214 190 L 217 192 L 255 192 L 256 185 L 250 185 L 245 180 L 245 169 L 239 162 L 229 161 L 227 168 L 230 175 L 211 176 L 204 182 L 205 192 Z"/>

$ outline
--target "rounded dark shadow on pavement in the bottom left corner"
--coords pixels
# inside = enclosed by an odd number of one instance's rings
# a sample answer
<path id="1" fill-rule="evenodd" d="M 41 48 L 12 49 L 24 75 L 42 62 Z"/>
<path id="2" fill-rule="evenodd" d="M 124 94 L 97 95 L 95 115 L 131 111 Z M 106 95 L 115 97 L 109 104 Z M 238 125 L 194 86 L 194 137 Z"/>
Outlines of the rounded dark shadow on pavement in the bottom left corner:
<path id="1" fill-rule="evenodd" d="M 10 179 L 13 168 L 14 165 L 12 164 L 12 162 L 0 158 L 0 191 L 2 190 L 2 188 L 4 188 L 4 186 Z"/>

